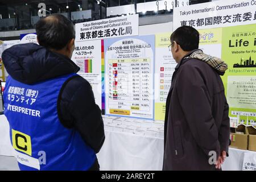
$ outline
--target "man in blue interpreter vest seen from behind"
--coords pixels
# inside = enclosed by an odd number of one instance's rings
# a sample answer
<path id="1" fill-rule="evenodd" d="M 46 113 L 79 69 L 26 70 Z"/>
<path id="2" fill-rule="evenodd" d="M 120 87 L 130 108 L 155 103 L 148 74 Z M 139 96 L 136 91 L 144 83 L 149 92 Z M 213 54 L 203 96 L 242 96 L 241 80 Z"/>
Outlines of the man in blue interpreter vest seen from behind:
<path id="1" fill-rule="evenodd" d="M 99 170 L 101 110 L 71 60 L 75 30 L 63 15 L 36 24 L 37 44 L 6 49 L 5 115 L 20 170 Z"/>

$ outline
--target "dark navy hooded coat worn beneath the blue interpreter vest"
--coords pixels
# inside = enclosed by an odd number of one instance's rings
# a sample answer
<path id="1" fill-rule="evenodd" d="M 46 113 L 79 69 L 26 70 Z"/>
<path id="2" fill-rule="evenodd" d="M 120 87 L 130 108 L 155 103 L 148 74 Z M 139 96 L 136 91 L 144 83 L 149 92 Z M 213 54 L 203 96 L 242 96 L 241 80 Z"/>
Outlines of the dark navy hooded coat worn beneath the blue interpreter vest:
<path id="1" fill-rule="evenodd" d="M 76 73 L 79 67 L 71 59 L 37 44 L 18 44 L 2 53 L 9 75 L 24 84 Z M 64 83 L 57 105 L 61 123 L 79 131 L 84 142 L 97 153 L 105 140 L 101 110 L 96 105 L 92 87 L 81 76 Z"/>

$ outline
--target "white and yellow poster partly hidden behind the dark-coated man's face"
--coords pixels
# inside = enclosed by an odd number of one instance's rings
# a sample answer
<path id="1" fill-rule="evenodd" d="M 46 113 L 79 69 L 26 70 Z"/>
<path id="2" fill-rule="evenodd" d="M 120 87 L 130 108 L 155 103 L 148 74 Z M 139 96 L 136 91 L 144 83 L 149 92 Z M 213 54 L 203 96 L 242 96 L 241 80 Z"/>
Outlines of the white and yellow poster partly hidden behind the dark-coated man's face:
<path id="1" fill-rule="evenodd" d="M 171 32 L 155 36 L 155 120 L 164 121 L 166 99 L 177 65 L 169 50 Z"/>

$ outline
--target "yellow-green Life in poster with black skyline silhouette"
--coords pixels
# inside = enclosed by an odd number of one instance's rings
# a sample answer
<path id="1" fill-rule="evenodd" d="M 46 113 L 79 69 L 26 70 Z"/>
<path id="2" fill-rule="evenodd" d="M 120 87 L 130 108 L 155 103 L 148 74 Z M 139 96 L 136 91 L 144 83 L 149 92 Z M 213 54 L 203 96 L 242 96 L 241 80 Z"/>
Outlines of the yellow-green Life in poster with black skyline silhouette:
<path id="1" fill-rule="evenodd" d="M 222 78 L 230 115 L 250 125 L 256 120 L 256 24 L 223 28 L 222 59 L 229 65 Z"/>

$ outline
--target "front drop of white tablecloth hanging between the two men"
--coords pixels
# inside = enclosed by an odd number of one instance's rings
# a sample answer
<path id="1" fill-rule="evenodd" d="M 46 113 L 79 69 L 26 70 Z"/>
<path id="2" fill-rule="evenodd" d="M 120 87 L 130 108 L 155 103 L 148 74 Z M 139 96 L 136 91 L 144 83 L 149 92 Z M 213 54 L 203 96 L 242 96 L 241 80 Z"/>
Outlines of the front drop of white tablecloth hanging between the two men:
<path id="1" fill-rule="evenodd" d="M 101 170 L 162 170 L 163 139 L 105 131 L 97 154 Z"/>

